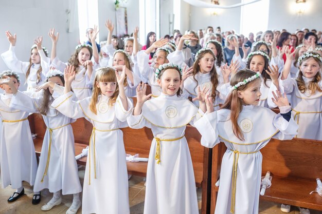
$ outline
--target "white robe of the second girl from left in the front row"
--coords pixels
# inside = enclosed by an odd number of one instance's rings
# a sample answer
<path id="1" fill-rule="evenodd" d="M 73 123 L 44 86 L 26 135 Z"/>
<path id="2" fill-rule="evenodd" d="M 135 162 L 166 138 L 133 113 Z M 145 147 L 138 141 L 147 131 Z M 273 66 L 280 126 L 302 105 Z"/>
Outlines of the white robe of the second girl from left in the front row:
<path id="1" fill-rule="evenodd" d="M 63 93 L 63 87 L 59 87 L 56 84 L 54 90 Z M 37 96 L 37 98 L 30 98 L 23 92 L 18 91 L 10 105 L 30 113 L 39 113 L 38 108 L 42 103 L 42 99 L 43 96 L 41 95 Z M 42 189 L 49 189 L 50 192 L 62 190 L 62 194 L 81 192 L 82 187 L 75 159 L 75 140 L 73 128 L 70 125 L 76 120 L 68 118 L 50 107 L 47 115 L 42 116 L 47 129 L 41 148 L 39 167 L 33 190 L 35 192 Z M 50 155 L 49 164 L 47 165 L 48 154 Z M 46 167 L 48 168 L 45 175 Z"/>

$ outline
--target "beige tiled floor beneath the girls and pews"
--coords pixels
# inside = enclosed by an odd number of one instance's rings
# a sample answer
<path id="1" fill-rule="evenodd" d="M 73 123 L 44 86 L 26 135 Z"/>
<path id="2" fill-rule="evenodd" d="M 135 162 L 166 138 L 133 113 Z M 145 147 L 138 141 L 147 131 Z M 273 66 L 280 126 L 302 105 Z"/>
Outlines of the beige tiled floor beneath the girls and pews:
<path id="1" fill-rule="evenodd" d="M 81 183 L 83 183 L 84 178 L 84 167 L 79 169 L 79 177 Z M 0 179 L 1 184 L 1 179 Z M 145 181 L 144 178 L 132 176 L 129 180 L 129 199 L 130 199 L 130 211 L 131 214 L 141 214 L 143 213 L 144 208 L 144 198 L 145 198 Z M 35 214 L 35 213 L 44 213 L 44 214 L 64 214 L 68 207 L 71 205 L 73 197 L 71 195 L 62 196 L 62 204 L 59 206 L 53 207 L 49 211 L 42 211 L 41 206 L 48 202 L 52 193 L 48 190 L 43 190 L 41 193 L 41 203 L 38 205 L 32 205 L 31 200 L 33 196 L 32 188 L 24 183 L 25 187 L 25 196 L 19 200 L 8 203 L 7 199 L 13 193 L 11 187 L 5 189 L 0 188 L 0 214 Z M 197 190 L 198 194 L 198 205 L 201 208 L 201 189 Z M 273 202 L 264 202 L 261 201 L 259 204 L 260 214 L 282 214 L 284 212 L 280 211 L 279 204 Z M 201 210 L 199 210 L 201 212 Z M 78 210 L 77 214 L 81 214 L 81 208 Z M 299 214 L 297 208 L 292 207 L 290 214 Z M 322 211 L 311 210 L 311 214 L 322 214 Z"/>

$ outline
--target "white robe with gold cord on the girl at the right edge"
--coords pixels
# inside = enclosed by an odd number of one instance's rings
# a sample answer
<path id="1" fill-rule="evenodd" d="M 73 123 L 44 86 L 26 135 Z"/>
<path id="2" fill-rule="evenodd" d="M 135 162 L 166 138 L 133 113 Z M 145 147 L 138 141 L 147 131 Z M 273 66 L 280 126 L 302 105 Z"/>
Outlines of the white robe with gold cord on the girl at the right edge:
<path id="1" fill-rule="evenodd" d="M 312 81 L 305 76 L 303 80 L 306 85 Z M 322 89 L 322 81 L 318 85 Z M 300 92 L 296 80 L 290 74 L 287 79 L 279 80 L 279 87 L 281 93 L 291 95 L 292 115 L 298 124 L 297 137 L 322 140 L 322 92 L 316 90 L 312 95 L 308 90 Z"/>

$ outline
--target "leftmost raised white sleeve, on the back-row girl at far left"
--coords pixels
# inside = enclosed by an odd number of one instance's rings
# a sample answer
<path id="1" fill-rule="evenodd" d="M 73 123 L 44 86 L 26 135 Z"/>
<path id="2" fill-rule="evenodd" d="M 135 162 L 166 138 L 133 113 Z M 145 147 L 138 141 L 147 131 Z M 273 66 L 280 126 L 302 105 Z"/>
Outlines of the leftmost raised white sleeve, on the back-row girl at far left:
<path id="1" fill-rule="evenodd" d="M 1 54 L 2 59 L 4 60 L 7 67 L 15 72 L 26 74 L 29 62 L 22 62 L 17 59 L 15 55 L 15 46 L 9 47 L 9 50 Z"/>

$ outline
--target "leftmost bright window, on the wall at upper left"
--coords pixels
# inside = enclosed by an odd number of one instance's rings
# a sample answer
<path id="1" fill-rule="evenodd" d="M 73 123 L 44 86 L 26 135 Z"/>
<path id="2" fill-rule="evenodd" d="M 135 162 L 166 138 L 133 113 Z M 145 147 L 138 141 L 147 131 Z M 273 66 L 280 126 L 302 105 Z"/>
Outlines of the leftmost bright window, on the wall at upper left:
<path id="1" fill-rule="evenodd" d="M 79 40 L 86 42 L 86 29 L 98 26 L 98 0 L 78 0 L 78 26 Z M 99 34 L 96 36 L 96 42 L 99 43 Z"/>

